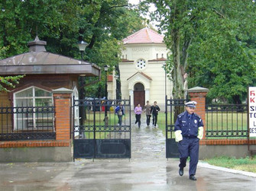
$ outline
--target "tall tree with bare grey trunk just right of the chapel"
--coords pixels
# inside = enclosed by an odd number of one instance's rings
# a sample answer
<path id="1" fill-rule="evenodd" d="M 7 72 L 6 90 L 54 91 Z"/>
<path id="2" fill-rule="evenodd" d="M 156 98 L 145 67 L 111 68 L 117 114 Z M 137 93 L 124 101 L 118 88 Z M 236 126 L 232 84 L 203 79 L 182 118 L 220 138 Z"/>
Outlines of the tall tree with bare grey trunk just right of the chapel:
<path id="1" fill-rule="evenodd" d="M 157 11 L 152 17 L 160 22 L 160 29 L 164 31 L 165 43 L 172 55 L 167 62 L 167 73 L 171 73 L 173 81 L 173 98 L 184 97 L 185 69 L 188 52 L 195 33 L 195 20 L 199 7 L 192 1 L 156 1 L 152 0 Z M 198 18 L 197 18 L 198 19 Z"/>

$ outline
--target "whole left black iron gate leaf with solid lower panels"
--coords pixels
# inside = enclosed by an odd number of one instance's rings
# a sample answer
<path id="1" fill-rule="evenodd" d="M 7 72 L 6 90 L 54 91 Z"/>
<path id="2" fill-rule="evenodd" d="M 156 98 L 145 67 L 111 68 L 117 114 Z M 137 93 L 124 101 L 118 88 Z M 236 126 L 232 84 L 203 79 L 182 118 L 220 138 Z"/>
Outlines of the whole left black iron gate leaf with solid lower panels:
<path id="1" fill-rule="evenodd" d="M 131 99 L 73 100 L 73 158 L 131 158 Z M 115 107 L 125 115 L 118 124 Z M 83 120 L 79 107 L 85 111 Z M 80 119 L 79 119 L 80 118 Z M 78 120 L 79 119 L 79 120 Z"/>

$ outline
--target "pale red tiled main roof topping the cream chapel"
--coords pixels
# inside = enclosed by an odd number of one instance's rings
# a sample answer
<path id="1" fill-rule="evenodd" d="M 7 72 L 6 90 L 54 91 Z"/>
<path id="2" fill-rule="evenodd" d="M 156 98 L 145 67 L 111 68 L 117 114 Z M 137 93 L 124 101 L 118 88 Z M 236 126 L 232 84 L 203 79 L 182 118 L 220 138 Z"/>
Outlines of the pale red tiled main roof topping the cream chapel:
<path id="1" fill-rule="evenodd" d="M 126 37 L 123 43 L 164 43 L 164 36 L 146 27 Z"/>

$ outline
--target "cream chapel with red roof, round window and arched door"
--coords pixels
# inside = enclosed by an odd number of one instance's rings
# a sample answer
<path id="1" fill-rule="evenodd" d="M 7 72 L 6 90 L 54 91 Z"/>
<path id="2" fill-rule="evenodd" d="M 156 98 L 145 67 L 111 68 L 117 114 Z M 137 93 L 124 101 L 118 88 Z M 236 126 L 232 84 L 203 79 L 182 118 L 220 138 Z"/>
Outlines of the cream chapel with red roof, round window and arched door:
<path id="1" fill-rule="evenodd" d="M 118 63 L 121 93 L 122 99 L 131 96 L 131 110 L 138 103 L 144 107 L 147 100 L 151 105 L 157 101 L 160 110 L 165 110 L 165 95 L 170 98 L 173 87 L 164 70 L 168 54 L 164 36 L 148 27 L 123 40 L 122 61 Z M 115 78 L 108 84 L 109 99 L 115 99 Z"/>

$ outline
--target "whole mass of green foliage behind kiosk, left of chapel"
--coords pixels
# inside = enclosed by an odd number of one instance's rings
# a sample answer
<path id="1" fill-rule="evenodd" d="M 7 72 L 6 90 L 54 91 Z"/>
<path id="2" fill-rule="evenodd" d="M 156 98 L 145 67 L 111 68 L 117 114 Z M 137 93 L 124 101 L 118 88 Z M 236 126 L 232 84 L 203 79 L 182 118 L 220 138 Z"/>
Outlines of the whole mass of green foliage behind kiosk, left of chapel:
<path id="1" fill-rule="evenodd" d="M 0 7 L 2 59 L 28 52 L 27 43 L 36 36 L 47 41 L 48 52 L 80 59 L 77 43 L 83 40 L 89 43 L 85 59 L 110 65 L 112 72 L 118 65 L 118 41 L 144 27 L 140 11 L 128 0 L 3 0 Z M 91 87 L 94 96 L 103 97 L 104 80 Z"/>

